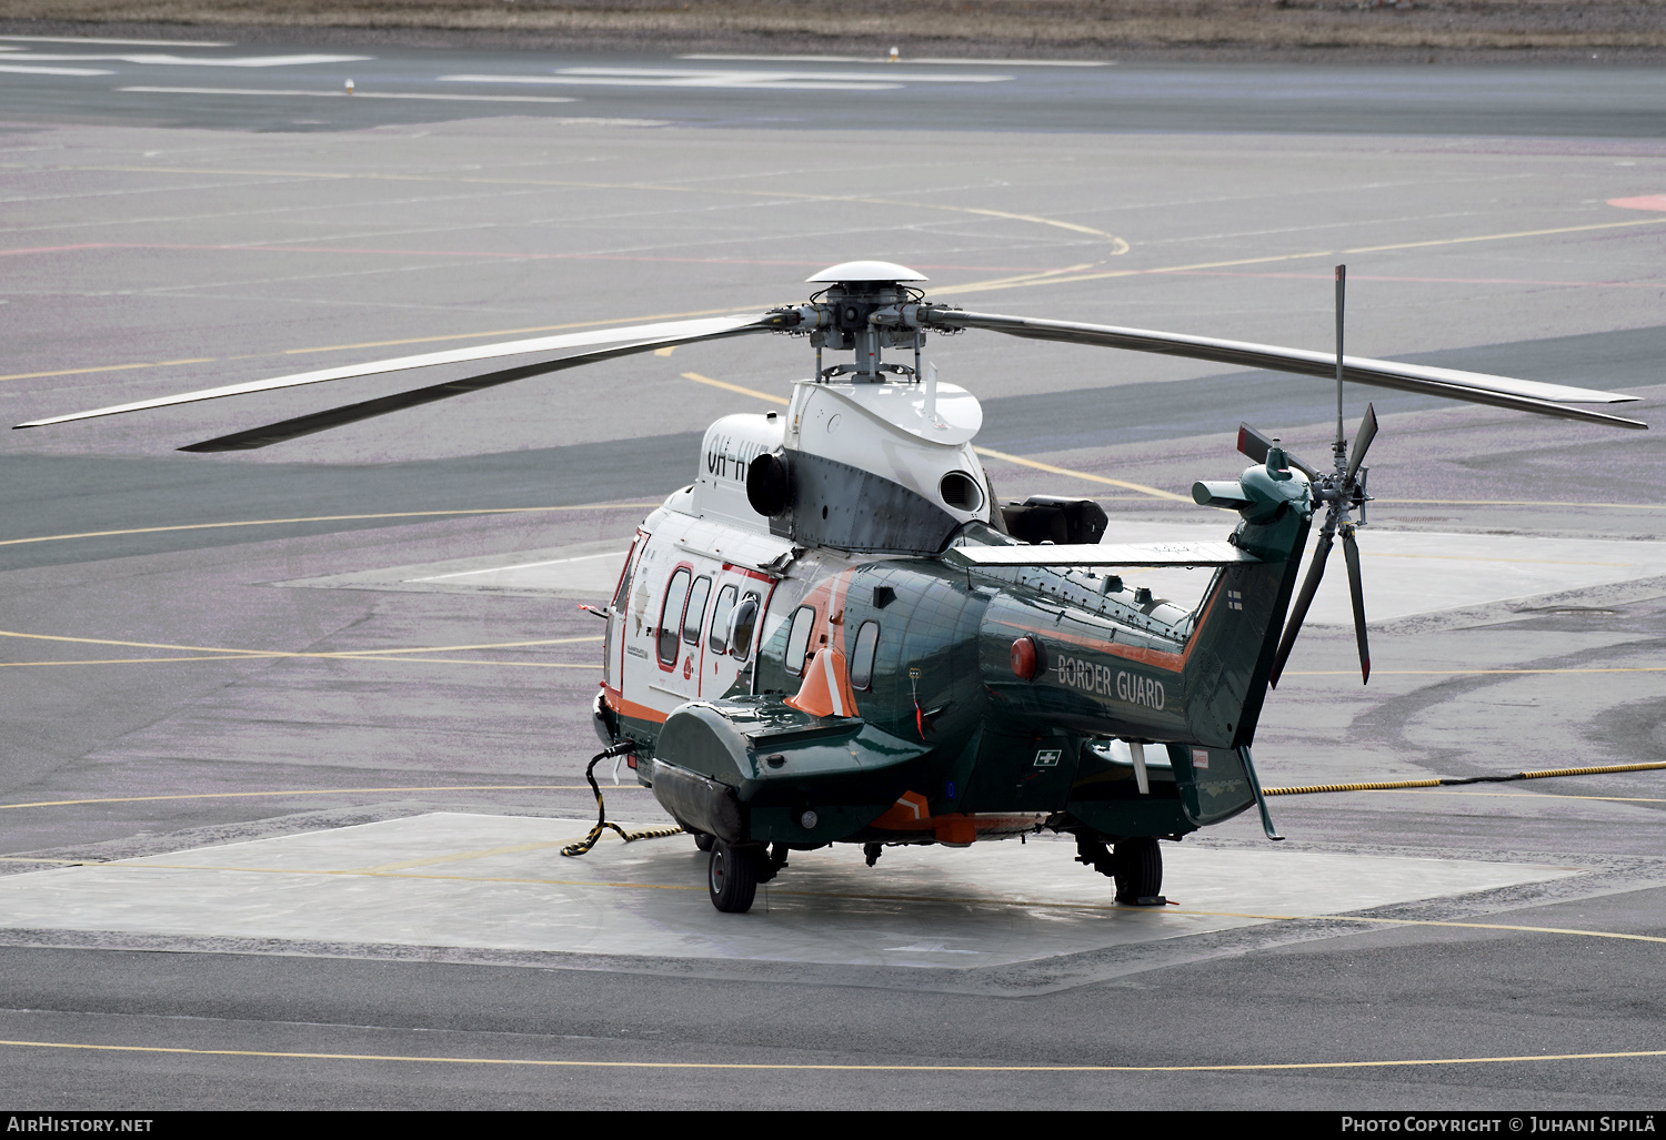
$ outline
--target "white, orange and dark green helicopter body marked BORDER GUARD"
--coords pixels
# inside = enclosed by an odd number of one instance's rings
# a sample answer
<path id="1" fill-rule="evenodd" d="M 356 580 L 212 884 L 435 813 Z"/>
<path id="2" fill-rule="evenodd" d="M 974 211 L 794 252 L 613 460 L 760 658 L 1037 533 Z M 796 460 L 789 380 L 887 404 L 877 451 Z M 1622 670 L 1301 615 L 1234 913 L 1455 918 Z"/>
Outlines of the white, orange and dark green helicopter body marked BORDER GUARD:
<path id="1" fill-rule="evenodd" d="M 638 528 L 608 611 L 601 697 L 606 731 L 635 744 L 638 779 L 660 766 L 715 781 L 745 810 L 748 839 L 790 845 L 971 842 L 1048 820 L 1166 835 L 1248 807 L 1240 749 L 1306 514 L 1241 524 L 1238 541 L 1263 561 L 1218 569 L 1193 609 L 1095 569 L 970 566 L 956 549 L 1016 539 L 998 529 L 966 404 L 950 439 L 921 439 L 868 414 L 871 393 L 838 388 L 800 384 L 785 414 L 713 424 L 695 484 Z M 936 493 L 941 548 L 808 544 L 751 509 L 748 468 L 796 458 L 795 436 L 815 428 L 826 463 L 795 471 L 836 469 L 826 439 L 845 416 L 858 419 L 843 424 L 846 458 L 908 494 L 881 489 L 891 501 L 878 506 L 858 494 L 841 523 L 800 491 L 798 511 L 873 544 L 888 541 L 885 519 L 865 511 L 923 511 L 908 496 Z"/>

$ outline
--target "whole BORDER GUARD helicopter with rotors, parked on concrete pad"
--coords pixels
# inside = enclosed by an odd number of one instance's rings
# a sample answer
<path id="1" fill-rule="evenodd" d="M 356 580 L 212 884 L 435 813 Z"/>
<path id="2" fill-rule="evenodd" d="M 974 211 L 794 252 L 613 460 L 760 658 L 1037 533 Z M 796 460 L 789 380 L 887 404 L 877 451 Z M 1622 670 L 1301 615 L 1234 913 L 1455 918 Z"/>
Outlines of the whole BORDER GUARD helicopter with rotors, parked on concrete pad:
<path id="1" fill-rule="evenodd" d="M 606 621 L 591 769 L 621 757 L 693 834 L 721 912 L 746 912 L 795 852 L 861 844 L 871 867 L 888 845 L 1043 829 L 1073 835 L 1076 860 L 1111 877 L 1118 902 L 1161 905 L 1160 839 L 1251 807 L 1279 839 L 1251 746 L 1338 538 L 1369 681 L 1356 526 L 1378 424 L 1368 406 L 1349 448 L 1343 383 L 1648 426 L 1573 406 L 1634 396 L 1344 356 L 1341 266 L 1334 353 L 966 311 L 928 301 L 921 281 L 846 261 L 808 280 L 821 286 L 808 301 L 765 313 L 501 341 L 17 426 L 543 356 L 180 448 L 240 451 L 676 344 L 808 340 L 815 373 L 786 409 L 713 423 L 695 481 L 641 521 L 611 599 L 586 607 Z M 970 330 L 1334 378 L 1331 464 L 1241 424 L 1251 466 L 1191 488 L 1196 504 L 1238 516 L 1221 541 L 1103 541 L 1108 518 L 1091 499 L 996 498 L 971 444 L 978 399 L 923 366 L 928 335 Z M 825 353 L 851 359 L 825 364 Z M 1211 577 L 1185 607 L 1125 577 L 1145 568 Z"/>

